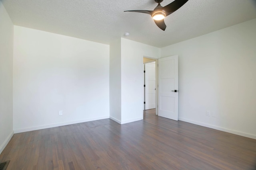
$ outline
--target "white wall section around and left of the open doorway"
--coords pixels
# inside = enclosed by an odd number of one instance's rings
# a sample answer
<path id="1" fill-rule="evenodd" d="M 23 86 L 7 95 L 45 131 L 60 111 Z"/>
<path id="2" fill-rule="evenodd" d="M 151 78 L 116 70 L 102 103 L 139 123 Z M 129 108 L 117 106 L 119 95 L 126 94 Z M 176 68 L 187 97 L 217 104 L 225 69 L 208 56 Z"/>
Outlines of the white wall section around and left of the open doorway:
<path id="1" fill-rule="evenodd" d="M 143 57 L 159 58 L 160 48 L 121 38 L 122 124 L 143 119 Z"/>

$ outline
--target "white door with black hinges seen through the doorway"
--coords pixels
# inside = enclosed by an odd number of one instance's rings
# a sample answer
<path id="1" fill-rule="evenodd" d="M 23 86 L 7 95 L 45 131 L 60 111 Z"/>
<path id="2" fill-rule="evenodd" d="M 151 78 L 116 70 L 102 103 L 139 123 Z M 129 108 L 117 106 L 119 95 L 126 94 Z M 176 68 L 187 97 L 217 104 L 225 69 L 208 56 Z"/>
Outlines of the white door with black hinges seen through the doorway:
<path id="1" fill-rule="evenodd" d="M 156 62 L 145 64 L 145 110 L 156 108 Z"/>

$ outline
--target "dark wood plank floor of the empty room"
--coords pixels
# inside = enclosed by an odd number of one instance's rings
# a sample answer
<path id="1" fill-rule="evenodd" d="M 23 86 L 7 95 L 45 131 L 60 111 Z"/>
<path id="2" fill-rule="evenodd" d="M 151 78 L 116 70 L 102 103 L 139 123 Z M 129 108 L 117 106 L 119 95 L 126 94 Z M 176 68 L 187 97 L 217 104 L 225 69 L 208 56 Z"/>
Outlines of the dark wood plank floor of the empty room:
<path id="1" fill-rule="evenodd" d="M 14 134 L 7 170 L 256 170 L 256 140 L 158 117 L 110 119 Z"/>

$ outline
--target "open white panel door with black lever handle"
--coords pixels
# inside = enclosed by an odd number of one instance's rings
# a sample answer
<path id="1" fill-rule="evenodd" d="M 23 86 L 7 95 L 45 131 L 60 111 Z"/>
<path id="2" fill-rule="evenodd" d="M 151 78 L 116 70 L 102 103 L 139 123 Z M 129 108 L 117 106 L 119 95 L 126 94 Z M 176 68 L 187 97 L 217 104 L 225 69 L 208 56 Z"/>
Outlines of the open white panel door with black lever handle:
<path id="1" fill-rule="evenodd" d="M 158 59 L 158 115 L 178 120 L 178 55 Z"/>

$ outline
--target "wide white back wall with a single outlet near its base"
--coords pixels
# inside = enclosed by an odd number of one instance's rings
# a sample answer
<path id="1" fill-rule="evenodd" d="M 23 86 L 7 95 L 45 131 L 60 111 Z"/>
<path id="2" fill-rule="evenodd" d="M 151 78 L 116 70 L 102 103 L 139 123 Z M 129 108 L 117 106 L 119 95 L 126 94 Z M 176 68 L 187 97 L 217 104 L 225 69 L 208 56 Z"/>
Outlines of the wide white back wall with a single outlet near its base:
<path id="1" fill-rule="evenodd" d="M 13 115 L 15 133 L 108 118 L 109 45 L 14 26 Z"/>

